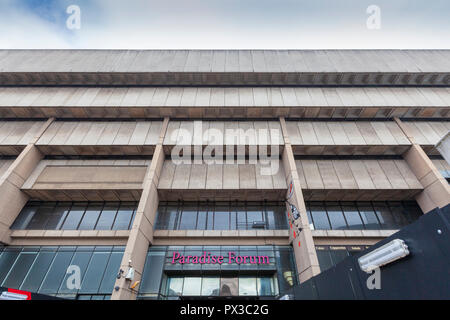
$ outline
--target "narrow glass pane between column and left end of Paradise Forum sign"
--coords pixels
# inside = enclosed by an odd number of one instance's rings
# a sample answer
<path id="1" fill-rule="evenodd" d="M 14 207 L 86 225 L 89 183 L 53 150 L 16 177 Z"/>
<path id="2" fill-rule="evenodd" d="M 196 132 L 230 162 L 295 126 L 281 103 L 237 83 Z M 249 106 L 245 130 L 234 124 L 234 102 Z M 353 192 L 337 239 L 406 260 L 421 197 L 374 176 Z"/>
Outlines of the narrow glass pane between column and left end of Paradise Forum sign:
<path id="1" fill-rule="evenodd" d="M 147 253 L 142 283 L 139 285 L 140 293 L 159 293 L 165 256 L 165 251 L 149 251 Z"/>

